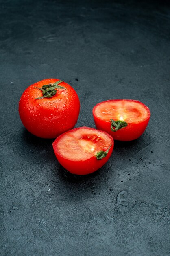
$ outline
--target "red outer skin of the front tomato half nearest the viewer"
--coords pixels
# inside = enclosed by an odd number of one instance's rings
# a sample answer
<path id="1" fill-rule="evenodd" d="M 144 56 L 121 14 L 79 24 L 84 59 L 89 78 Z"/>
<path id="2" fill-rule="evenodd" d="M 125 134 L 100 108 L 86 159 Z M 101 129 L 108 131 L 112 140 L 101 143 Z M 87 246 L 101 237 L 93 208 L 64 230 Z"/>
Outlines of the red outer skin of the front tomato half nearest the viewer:
<path id="1" fill-rule="evenodd" d="M 78 130 L 81 128 L 86 128 L 87 130 L 96 130 L 94 128 L 89 128 L 89 127 L 80 127 L 80 128 L 75 128 L 72 129 L 68 132 L 72 132 L 73 130 Z M 97 131 L 97 130 L 96 130 Z M 102 133 L 107 134 L 104 131 L 100 131 Z M 113 147 L 114 147 L 114 141 L 113 138 L 107 134 L 107 136 L 109 136 L 109 138 L 111 139 L 111 148 L 109 150 L 109 152 L 107 153 L 107 156 L 102 158 L 101 160 L 97 160 L 97 158 L 94 156 L 90 157 L 87 160 L 79 160 L 79 161 L 72 161 L 70 159 L 67 159 L 66 157 L 63 157 L 58 151 L 57 151 L 57 143 L 59 142 L 59 140 L 63 137 L 64 134 L 60 135 L 59 137 L 57 137 L 57 139 L 53 142 L 52 146 L 54 149 L 54 153 L 57 157 L 57 160 L 59 161 L 59 163 L 66 169 L 68 170 L 70 173 L 72 174 L 76 174 L 76 175 L 86 175 L 89 173 L 93 173 L 94 171 L 98 170 L 99 168 L 101 168 L 110 158 L 111 153 L 113 151 Z M 68 144 L 69 146 L 69 144 Z"/>

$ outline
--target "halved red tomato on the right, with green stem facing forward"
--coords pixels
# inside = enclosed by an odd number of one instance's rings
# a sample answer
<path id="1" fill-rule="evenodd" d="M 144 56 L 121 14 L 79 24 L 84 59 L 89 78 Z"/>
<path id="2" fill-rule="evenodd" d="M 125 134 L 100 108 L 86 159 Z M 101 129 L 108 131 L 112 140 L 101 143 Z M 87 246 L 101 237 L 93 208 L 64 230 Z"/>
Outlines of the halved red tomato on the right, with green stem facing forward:
<path id="1" fill-rule="evenodd" d="M 150 119 L 150 110 L 142 102 L 114 99 L 98 103 L 93 108 L 96 127 L 113 139 L 131 141 L 139 138 Z"/>

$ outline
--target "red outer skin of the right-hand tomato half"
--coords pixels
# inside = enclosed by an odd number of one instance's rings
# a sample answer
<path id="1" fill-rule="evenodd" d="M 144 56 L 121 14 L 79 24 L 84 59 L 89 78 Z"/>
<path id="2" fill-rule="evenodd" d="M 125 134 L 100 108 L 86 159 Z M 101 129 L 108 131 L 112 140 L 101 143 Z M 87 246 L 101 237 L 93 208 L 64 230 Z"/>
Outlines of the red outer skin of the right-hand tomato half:
<path id="1" fill-rule="evenodd" d="M 117 100 L 109 100 L 109 101 L 117 101 Z M 120 101 L 120 100 L 118 100 Z M 135 100 L 128 100 L 134 102 Z M 104 101 L 105 102 L 105 101 Z M 95 114 L 96 107 L 101 104 L 98 103 L 93 108 L 93 117 L 94 122 L 96 125 L 96 128 L 99 130 L 104 130 L 105 132 L 109 133 L 113 139 L 119 140 L 119 141 L 132 141 L 134 139 L 138 139 L 145 131 L 149 119 L 150 119 L 150 110 L 148 107 L 146 107 L 142 102 L 137 101 L 138 103 L 142 104 L 145 108 L 148 109 L 148 117 L 144 121 L 136 121 L 136 123 L 128 123 L 128 125 L 120 130 L 117 130 L 116 132 L 111 131 L 111 123 L 110 120 L 102 120 Z"/>

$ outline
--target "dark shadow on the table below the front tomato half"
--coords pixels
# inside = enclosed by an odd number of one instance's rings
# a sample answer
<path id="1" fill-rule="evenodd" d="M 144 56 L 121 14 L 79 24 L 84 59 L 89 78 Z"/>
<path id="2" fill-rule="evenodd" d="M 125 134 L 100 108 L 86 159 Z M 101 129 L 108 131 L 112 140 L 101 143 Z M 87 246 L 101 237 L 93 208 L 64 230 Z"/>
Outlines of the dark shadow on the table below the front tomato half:
<path id="1" fill-rule="evenodd" d="M 63 195 L 68 195 L 69 200 L 80 202 L 91 198 L 92 195 L 105 194 L 105 186 L 113 176 L 113 172 L 107 172 L 109 164 L 88 175 L 74 175 L 59 163 L 55 164 L 55 176 L 60 181 L 60 190 Z M 113 179 L 112 179 L 113 180 Z"/>

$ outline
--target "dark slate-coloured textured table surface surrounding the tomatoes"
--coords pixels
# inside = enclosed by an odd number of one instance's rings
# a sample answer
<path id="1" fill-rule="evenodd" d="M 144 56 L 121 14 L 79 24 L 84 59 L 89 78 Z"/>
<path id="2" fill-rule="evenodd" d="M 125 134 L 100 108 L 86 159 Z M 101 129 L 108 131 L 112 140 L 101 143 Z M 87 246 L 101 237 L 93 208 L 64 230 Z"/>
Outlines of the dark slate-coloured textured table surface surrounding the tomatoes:
<path id="1" fill-rule="evenodd" d="M 0 1 L 0 255 L 170 255 L 170 7 L 168 2 Z M 52 141 L 22 126 L 18 101 L 59 78 L 92 108 L 137 99 L 142 137 L 115 141 L 92 175 L 69 174 Z"/>

